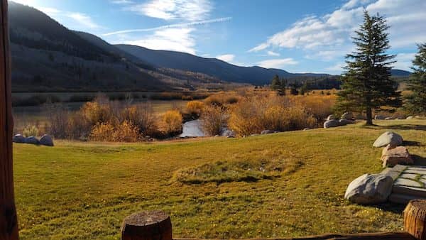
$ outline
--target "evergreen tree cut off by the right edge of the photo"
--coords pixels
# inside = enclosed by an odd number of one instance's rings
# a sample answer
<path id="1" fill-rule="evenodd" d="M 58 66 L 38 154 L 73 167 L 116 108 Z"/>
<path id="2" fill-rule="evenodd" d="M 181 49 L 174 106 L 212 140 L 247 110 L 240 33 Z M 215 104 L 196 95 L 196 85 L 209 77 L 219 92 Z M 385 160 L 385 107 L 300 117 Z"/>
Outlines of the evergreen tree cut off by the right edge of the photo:
<path id="1" fill-rule="evenodd" d="M 404 107 L 413 114 L 426 113 L 426 43 L 418 45 L 419 53 L 413 60 L 413 74 L 408 80 L 409 94 Z"/>

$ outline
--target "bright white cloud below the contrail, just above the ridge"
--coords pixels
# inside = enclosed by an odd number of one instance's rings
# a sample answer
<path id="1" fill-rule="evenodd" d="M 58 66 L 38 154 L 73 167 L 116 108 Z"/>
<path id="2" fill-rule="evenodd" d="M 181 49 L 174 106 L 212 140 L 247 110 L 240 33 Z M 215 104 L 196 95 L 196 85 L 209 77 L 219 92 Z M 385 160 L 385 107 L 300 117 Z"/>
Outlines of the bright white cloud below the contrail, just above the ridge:
<path id="1" fill-rule="evenodd" d="M 195 39 L 190 33 L 194 28 L 167 28 L 158 30 L 140 40 L 125 40 L 125 44 L 138 45 L 154 50 L 173 50 L 195 54 Z"/>

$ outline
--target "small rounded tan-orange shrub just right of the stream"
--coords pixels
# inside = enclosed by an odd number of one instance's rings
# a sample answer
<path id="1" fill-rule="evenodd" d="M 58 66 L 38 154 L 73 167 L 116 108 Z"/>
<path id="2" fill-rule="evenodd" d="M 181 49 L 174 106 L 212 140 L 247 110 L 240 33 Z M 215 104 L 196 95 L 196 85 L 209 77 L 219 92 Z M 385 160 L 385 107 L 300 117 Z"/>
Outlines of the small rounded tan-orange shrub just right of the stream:
<path id="1" fill-rule="evenodd" d="M 200 119 L 204 133 L 210 136 L 219 135 L 226 124 L 226 112 L 221 107 L 207 105 Z"/>

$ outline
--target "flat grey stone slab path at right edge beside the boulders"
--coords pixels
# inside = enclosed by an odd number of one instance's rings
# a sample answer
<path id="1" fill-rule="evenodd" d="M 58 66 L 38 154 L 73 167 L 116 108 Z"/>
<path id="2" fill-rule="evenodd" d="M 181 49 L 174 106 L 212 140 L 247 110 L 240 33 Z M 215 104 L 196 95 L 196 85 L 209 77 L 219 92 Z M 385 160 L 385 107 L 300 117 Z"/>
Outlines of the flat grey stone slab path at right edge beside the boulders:
<path id="1" fill-rule="evenodd" d="M 426 199 L 426 167 L 395 165 L 382 172 L 393 178 L 390 202 L 406 204 L 414 199 Z"/>

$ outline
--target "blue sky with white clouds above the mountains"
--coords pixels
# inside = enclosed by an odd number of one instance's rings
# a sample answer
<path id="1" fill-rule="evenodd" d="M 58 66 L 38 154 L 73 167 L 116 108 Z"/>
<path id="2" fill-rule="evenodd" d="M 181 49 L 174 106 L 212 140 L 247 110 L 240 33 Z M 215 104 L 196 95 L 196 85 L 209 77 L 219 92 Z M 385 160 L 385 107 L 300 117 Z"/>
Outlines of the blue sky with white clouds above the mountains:
<path id="1" fill-rule="evenodd" d="M 342 71 L 363 9 L 388 18 L 395 68 L 426 42 L 425 0 L 16 0 L 109 43 L 289 72 Z"/>

